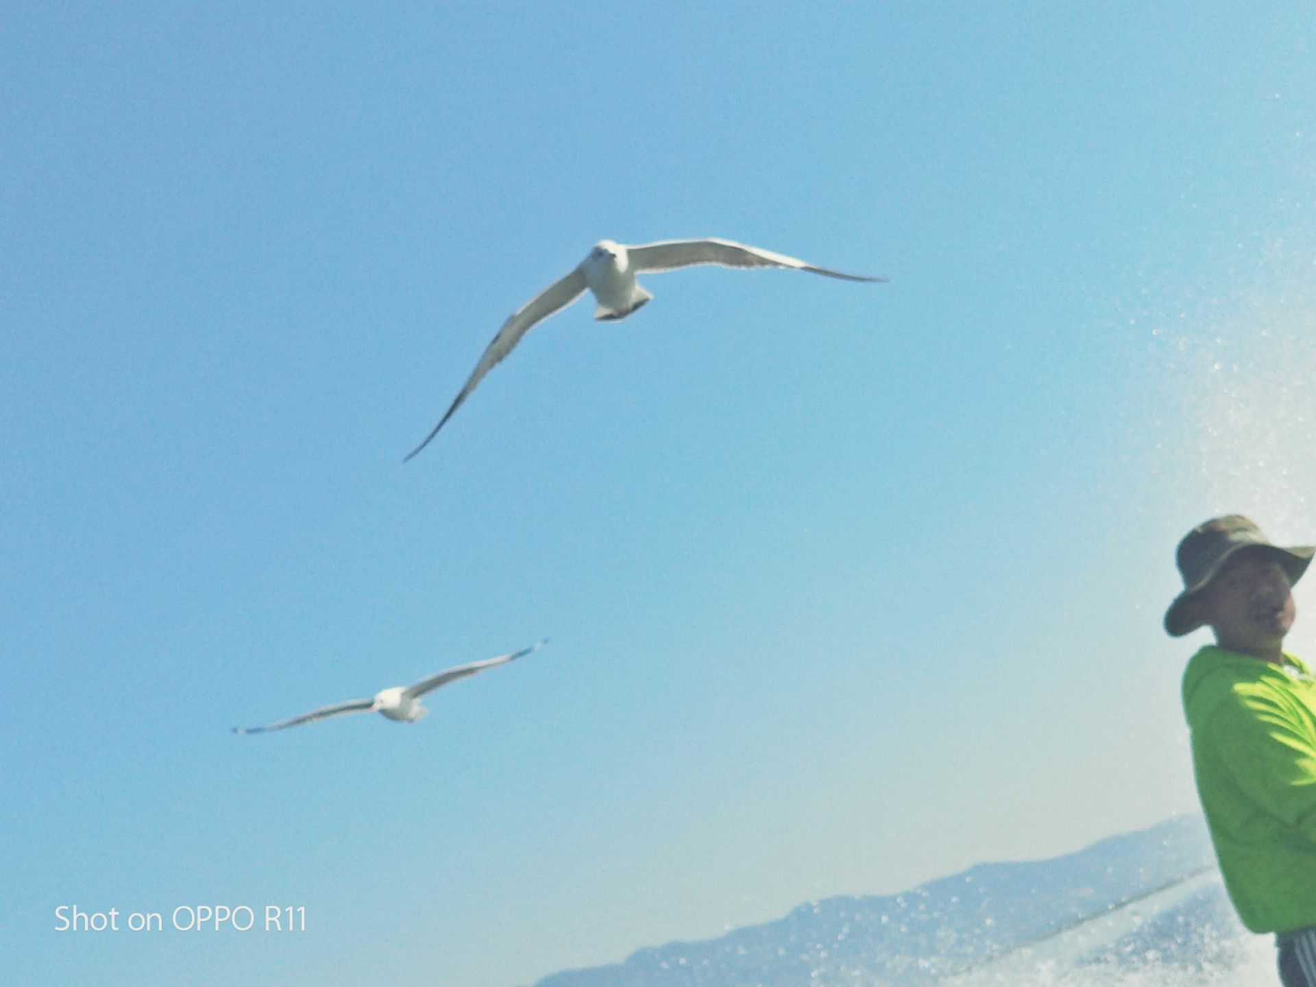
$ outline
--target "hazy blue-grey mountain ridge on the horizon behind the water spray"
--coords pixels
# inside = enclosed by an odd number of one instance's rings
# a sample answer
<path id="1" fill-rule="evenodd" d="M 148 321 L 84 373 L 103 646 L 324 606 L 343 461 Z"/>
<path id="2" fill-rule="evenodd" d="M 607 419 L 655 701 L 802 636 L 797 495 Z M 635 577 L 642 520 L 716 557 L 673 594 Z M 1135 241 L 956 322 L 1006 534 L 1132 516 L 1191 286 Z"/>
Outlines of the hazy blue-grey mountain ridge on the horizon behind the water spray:
<path id="1" fill-rule="evenodd" d="M 811 901 L 775 921 L 641 949 L 621 963 L 557 973 L 536 987 L 915 987 L 1173 887 L 1191 894 L 1073 962 L 1150 955 L 1192 965 L 1248 941 L 1219 878 L 1209 876 L 1213 869 L 1202 817 L 1184 816 L 1049 861 L 976 865 L 900 895 Z"/>

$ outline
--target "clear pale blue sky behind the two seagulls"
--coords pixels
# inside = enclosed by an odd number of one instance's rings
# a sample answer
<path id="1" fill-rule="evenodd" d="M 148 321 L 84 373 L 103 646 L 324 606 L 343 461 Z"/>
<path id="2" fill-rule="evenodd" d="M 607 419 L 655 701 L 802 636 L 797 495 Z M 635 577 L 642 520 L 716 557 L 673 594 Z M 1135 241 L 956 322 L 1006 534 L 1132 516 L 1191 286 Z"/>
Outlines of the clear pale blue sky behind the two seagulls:
<path id="1" fill-rule="evenodd" d="M 22 983 L 512 987 L 1195 809 L 1174 542 L 1316 540 L 1308 4 L 4 21 Z M 401 463 L 699 236 L 891 283 L 653 275 Z"/>

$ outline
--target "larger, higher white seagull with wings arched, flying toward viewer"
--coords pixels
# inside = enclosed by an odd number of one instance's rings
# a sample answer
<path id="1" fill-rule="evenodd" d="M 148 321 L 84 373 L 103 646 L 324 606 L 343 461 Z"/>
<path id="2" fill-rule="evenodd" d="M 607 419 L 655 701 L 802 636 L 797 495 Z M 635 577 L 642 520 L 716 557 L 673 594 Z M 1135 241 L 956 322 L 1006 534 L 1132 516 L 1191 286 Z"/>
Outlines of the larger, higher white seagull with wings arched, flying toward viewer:
<path id="1" fill-rule="evenodd" d="M 590 255 L 582 261 L 571 274 L 550 284 L 503 322 L 494 342 L 484 350 L 480 362 L 475 366 L 466 387 L 449 407 L 447 413 L 440 420 L 434 429 L 425 436 L 425 441 L 407 454 L 411 459 L 416 453 L 429 445 L 429 441 L 438 434 L 438 430 L 453 417 L 453 412 L 462 407 L 475 386 L 484 379 L 499 361 L 512 351 L 512 347 L 521 341 L 530 329 L 554 312 L 570 305 L 580 297 L 586 288 L 594 292 L 599 303 L 594 311 L 594 317 L 607 321 L 625 318 L 637 308 L 653 297 L 647 291 L 636 283 L 636 275 L 646 271 L 674 271 L 678 267 L 691 267 L 694 265 L 721 265 L 722 267 L 794 267 L 799 271 L 813 271 L 825 274 L 828 278 L 844 278 L 848 282 L 884 282 L 886 278 L 862 278 L 857 274 L 842 274 L 826 267 L 815 267 L 795 257 L 775 254 L 762 247 L 751 247 L 745 243 L 736 243 L 730 240 L 661 240 L 657 243 L 616 243 L 611 240 L 600 240 Z M 404 459 L 405 462 L 405 459 Z"/>

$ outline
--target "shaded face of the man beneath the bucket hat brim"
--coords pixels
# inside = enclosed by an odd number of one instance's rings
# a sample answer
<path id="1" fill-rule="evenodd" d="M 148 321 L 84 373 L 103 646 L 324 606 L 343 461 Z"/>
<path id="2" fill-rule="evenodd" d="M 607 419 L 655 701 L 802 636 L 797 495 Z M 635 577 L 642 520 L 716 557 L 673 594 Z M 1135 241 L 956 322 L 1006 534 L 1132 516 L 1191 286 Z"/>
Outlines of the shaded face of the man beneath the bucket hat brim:
<path id="1" fill-rule="evenodd" d="M 1244 549 L 1230 558 L 1199 599 L 1216 640 L 1232 651 L 1274 654 L 1294 625 L 1288 575 L 1266 549 Z"/>

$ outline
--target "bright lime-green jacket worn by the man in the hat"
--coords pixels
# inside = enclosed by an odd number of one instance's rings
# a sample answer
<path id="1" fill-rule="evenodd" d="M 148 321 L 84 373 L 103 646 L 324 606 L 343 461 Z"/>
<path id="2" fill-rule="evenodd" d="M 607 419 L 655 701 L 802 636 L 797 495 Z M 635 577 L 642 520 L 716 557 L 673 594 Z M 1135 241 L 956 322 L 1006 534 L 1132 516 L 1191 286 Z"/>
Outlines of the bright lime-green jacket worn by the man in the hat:
<path id="1" fill-rule="evenodd" d="M 1316 925 L 1316 678 L 1284 662 L 1208 646 L 1183 672 L 1198 794 L 1253 932 Z"/>

